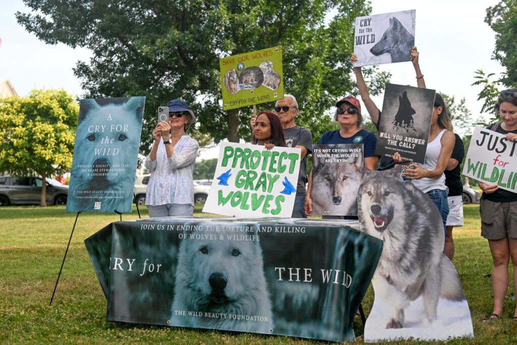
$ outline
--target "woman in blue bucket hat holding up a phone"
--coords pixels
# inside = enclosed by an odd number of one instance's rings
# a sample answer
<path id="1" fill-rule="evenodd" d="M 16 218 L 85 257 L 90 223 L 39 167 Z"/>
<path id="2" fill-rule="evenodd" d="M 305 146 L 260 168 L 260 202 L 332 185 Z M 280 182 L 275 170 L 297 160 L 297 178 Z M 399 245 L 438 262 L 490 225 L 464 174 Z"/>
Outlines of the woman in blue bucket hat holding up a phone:
<path id="1" fill-rule="evenodd" d="M 145 196 L 149 216 L 192 216 L 194 213 L 194 162 L 199 144 L 186 132 L 195 115 L 180 99 L 170 101 L 169 121 L 153 130 L 155 141 L 145 158 L 151 171 Z"/>

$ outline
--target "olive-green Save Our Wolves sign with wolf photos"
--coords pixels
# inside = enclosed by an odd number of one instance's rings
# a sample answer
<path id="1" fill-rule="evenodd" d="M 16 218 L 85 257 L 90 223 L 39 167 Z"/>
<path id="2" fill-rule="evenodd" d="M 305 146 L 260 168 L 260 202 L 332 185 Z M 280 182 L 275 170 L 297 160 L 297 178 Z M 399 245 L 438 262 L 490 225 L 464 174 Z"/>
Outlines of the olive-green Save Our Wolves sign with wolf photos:
<path id="1" fill-rule="evenodd" d="M 219 65 L 224 110 L 284 98 L 282 47 L 223 57 Z"/>

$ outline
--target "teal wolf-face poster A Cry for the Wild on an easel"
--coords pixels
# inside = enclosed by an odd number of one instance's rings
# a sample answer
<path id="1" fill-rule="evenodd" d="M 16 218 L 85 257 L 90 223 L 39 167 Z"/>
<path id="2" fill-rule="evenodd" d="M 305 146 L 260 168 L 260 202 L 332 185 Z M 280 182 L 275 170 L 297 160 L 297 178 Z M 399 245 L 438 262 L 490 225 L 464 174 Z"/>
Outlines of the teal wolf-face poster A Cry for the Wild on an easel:
<path id="1" fill-rule="evenodd" d="M 145 97 L 81 100 L 67 211 L 131 211 L 144 103 Z"/>

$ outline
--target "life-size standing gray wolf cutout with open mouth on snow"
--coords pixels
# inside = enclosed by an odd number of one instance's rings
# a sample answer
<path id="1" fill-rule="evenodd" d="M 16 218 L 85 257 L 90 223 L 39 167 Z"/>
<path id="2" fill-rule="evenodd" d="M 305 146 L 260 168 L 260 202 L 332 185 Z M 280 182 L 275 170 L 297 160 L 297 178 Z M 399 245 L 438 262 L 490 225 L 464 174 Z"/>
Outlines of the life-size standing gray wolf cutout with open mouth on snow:
<path id="1" fill-rule="evenodd" d="M 443 253 L 442 218 L 427 194 L 402 181 L 400 168 L 363 169 L 358 205 L 360 230 L 384 242 L 364 340 L 474 336 L 460 278 Z"/>

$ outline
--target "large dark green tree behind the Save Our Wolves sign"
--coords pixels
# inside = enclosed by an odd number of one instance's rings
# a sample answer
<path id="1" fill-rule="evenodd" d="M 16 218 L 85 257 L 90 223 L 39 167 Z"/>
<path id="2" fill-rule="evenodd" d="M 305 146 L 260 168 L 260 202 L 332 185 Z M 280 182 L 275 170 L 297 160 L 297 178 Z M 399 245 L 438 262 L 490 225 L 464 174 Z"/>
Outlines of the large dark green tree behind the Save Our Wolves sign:
<path id="1" fill-rule="evenodd" d="M 86 98 L 146 96 L 141 151 L 148 152 L 156 110 L 183 98 L 199 131 L 217 143 L 250 140 L 251 109 L 224 112 L 219 58 L 281 45 L 284 85 L 297 97 L 297 123 L 318 138 L 331 127 L 325 110 L 354 89 L 348 60 L 354 19 L 370 13 L 365 0 L 24 0 L 32 13 L 18 22 L 47 43 L 93 51 L 79 62 Z M 329 20 L 329 13 L 334 14 Z M 388 73 L 366 69 L 372 94 Z M 270 109 L 272 104 L 261 104 Z M 239 126 L 242 124 L 242 126 Z"/>

